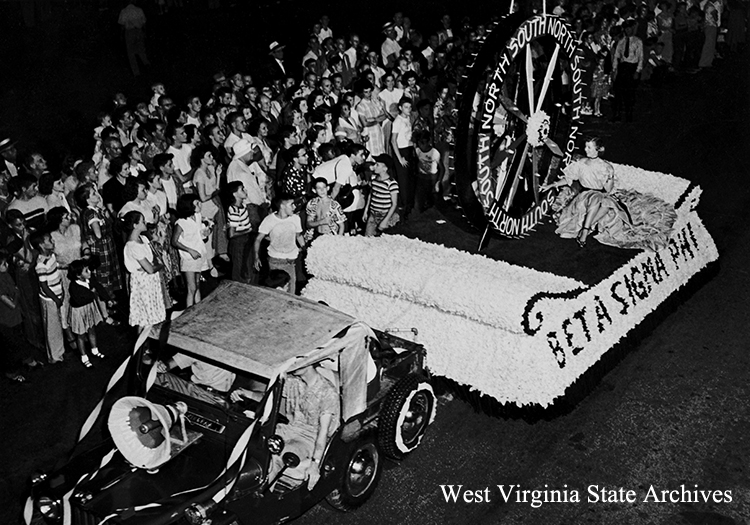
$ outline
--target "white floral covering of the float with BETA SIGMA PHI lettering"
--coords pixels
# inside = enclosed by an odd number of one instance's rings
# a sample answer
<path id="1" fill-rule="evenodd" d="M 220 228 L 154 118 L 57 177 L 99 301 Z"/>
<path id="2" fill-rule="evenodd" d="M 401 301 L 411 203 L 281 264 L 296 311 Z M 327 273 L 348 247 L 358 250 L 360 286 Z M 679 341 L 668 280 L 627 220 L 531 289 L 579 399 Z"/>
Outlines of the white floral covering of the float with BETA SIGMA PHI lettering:
<path id="1" fill-rule="evenodd" d="M 320 238 L 311 299 L 380 329 L 419 329 L 433 373 L 501 403 L 549 406 L 709 262 L 701 190 L 616 166 L 620 183 L 678 206 L 669 244 L 639 252 L 594 286 L 400 236 Z"/>

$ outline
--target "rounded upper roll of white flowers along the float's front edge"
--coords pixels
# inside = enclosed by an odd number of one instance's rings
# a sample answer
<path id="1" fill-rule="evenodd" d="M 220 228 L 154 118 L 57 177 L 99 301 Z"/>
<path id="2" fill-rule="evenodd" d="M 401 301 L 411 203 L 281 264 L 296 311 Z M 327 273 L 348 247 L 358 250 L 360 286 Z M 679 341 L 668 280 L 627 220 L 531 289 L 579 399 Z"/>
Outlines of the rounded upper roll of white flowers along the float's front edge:
<path id="1" fill-rule="evenodd" d="M 528 298 L 540 289 L 561 292 L 582 286 L 568 277 L 401 235 L 324 235 L 310 246 L 306 263 L 317 279 L 405 299 L 511 332 L 523 331 L 524 302 L 507 298 Z"/>

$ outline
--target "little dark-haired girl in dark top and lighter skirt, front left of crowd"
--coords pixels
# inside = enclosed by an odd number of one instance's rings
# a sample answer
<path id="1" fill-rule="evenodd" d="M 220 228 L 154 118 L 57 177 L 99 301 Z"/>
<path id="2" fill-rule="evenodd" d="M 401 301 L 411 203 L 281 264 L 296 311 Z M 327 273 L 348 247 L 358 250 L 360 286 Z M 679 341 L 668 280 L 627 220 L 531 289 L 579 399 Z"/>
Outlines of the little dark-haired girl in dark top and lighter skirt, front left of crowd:
<path id="1" fill-rule="evenodd" d="M 89 261 L 78 259 L 68 266 L 70 286 L 70 329 L 78 339 L 78 351 L 81 353 L 81 363 L 91 368 L 91 361 L 86 354 L 86 339 L 88 335 L 91 344 L 91 355 L 103 358 L 96 344 L 96 325 L 105 320 L 106 307 L 103 302 L 109 299 L 107 290 L 92 277 Z M 104 313 L 104 315 L 103 315 Z M 106 317 L 109 320 L 109 317 Z"/>

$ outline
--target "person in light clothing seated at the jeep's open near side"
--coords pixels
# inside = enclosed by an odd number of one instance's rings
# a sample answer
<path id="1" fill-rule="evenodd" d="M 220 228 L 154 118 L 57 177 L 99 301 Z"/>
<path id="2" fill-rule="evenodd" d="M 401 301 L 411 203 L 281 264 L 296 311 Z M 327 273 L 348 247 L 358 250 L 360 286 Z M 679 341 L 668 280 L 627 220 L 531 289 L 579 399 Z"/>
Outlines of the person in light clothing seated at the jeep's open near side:
<path id="1" fill-rule="evenodd" d="M 287 376 L 281 412 L 289 423 L 277 425 L 276 433 L 284 439 L 284 451 L 294 452 L 301 460 L 299 466 L 286 470 L 285 476 L 297 484 L 307 481 L 307 488 L 312 490 L 320 479 L 320 463 L 328 439 L 338 428 L 340 419 L 338 391 L 321 374 L 319 364 Z M 280 455 L 272 458 L 270 480 L 275 479 L 284 466 Z"/>

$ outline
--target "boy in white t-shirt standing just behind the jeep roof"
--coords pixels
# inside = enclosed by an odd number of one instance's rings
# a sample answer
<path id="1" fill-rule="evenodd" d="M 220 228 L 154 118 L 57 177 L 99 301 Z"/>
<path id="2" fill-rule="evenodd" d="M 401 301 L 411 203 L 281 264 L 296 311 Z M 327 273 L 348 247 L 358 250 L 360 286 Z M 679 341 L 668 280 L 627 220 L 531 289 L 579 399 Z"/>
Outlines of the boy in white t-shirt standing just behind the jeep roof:
<path id="1" fill-rule="evenodd" d="M 260 245 L 268 237 L 268 268 L 284 270 L 289 274 L 289 293 L 297 293 L 297 258 L 299 247 L 305 246 L 302 235 L 302 222 L 294 213 L 294 197 L 281 195 L 277 197 L 278 211 L 268 215 L 258 227 L 253 253 L 255 269 L 260 271 Z"/>

